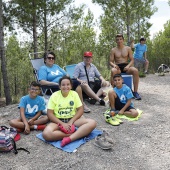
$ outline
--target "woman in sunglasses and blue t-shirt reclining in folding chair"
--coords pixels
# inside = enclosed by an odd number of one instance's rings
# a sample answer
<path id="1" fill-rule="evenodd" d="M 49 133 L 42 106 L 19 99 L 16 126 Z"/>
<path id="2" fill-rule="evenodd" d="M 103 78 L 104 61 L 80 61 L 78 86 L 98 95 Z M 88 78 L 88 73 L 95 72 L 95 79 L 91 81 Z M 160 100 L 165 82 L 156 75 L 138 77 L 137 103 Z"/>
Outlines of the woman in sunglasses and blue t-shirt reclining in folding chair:
<path id="1" fill-rule="evenodd" d="M 47 86 L 54 86 L 52 88 L 52 91 L 58 91 L 59 90 L 59 80 L 67 73 L 59 67 L 55 63 L 55 54 L 53 52 L 44 53 L 44 66 L 41 66 L 41 68 L 38 71 L 38 79 L 41 85 L 47 85 Z M 82 97 L 82 89 L 80 87 L 80 83 L 77 80 L 73 80 L 73 90 L 75 90 L 83 105 L 84 105 L 84 112 L 89 113 L 90 109 L 86 106 L 86 104 L 83 102 Z"/>

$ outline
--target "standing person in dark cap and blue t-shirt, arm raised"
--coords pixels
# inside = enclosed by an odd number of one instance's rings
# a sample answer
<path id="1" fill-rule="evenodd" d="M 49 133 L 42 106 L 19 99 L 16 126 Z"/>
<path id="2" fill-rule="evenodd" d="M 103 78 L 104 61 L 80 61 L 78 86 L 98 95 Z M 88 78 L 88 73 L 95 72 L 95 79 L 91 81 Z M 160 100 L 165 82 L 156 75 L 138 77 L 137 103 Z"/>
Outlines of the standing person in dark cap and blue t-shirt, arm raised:
<path id="1" fill-rule="evenodd" d="M 131 48 L 135 49 L 134 51 L 134 66 L 139 68 L 141 64 L 144 64 L 145 74 L 148 73 L 149 61 L 147 60 L 147 45 L 145 44 L 146 39 L 141 38 L 140 43 L 134 44 L 134 41 L 131 42 Z"/>

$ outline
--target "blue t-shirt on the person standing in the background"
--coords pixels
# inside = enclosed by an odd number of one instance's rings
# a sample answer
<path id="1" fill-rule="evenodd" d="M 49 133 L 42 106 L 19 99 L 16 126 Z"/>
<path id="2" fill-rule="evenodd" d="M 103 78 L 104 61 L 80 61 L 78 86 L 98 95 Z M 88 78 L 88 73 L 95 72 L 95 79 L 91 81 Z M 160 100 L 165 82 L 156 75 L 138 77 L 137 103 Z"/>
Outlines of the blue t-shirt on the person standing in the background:
<path id="1" fill-rule="evenodd" d="M 143 44 L 141 45 L 140 43 L 134 45 L 135 51 L 134 51 L 134 58 L 143 60 L 143 54 L 147 51 L 147 45 Z"/>

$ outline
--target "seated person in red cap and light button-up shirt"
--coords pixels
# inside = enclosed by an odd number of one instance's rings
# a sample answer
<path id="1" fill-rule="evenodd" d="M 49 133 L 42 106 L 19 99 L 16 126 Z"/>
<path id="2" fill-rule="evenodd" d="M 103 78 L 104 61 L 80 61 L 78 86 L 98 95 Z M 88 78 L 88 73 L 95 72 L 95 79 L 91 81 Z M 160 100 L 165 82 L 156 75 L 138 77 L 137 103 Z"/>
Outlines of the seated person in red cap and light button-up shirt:
<path id="1" fill-rule="evenodd" d="M 84 61 L 77 64 L 73 77 L 81 83 L 82 90 L 92 98 L 91 104 L 95 104 L 96 101 L 98 101 L 100 105 L 104 106 L 105 102 L 99 98 L 100 95 L 98 95 L 99 93 L 97 93 L 97 91 L 101 86 L 106 86 L 106 81 L 101 76 L 96 66 L 92 64 L 92 57 L 92 52 L 87 51 L 84 53 Z M 96 78 L 100 81 L 95 81 Z"/>

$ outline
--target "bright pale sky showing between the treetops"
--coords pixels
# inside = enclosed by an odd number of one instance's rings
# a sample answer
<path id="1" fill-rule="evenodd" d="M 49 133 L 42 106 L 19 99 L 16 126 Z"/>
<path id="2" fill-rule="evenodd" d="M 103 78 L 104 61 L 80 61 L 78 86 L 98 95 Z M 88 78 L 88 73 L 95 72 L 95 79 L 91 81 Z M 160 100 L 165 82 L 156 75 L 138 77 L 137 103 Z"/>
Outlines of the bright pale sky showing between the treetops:
<path id="1" fill-rule="evenodd" d="M 75 4 L 77 6 L 82 3 L 87 5 L 87 9 L 90 8 L 95 19 L 97 19 L 102 14 L 101 7 L 99 5 L 93 4 L 91 0 L 86 0 L 85 2 L 82 2 L 81 0 L 75 0 Z M 153 24 L 150 28 L 151 38 L 153 38 L 153 35 L 159 31 L 163 31 L 164 24 L 170 20 L 170 6 L 168 5 L 168 0 L 155 0 L 154 6 L 158 8 L 158 11 L 155 12 L 155 14 L 149 20 L 150 23 Z"/>

